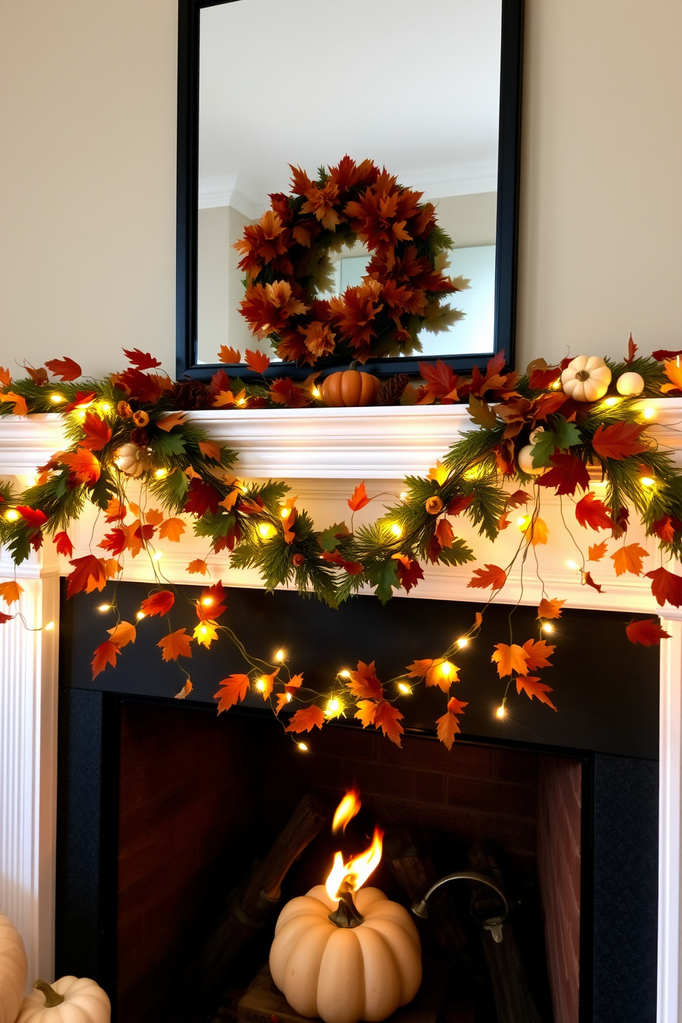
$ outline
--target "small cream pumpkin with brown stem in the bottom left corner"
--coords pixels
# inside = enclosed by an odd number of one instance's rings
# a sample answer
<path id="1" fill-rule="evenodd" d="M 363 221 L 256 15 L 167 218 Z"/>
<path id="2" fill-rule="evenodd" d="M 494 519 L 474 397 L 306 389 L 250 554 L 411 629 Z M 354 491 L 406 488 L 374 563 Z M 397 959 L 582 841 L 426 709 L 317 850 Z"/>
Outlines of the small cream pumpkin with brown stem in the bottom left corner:
<path id="1" fill-rule="evenodd" d="M 88 977 L 37 980 L 39 990 L 24 999 L 16 1023 L 110 1023 L 106 991 Z"/>

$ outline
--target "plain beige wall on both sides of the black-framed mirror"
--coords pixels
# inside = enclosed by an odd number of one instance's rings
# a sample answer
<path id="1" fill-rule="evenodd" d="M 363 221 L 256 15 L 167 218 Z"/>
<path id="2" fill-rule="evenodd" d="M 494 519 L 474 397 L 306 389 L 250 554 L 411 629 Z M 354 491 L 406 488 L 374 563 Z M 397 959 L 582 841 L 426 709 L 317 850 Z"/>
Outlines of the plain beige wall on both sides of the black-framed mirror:
<path id="1" fill-rule="evenodd" d="M 0 0 L 0 363 L 172 370 L 176 0 Z M 682 342 L 682 3 L 527 0 L 519 364 Z"/>

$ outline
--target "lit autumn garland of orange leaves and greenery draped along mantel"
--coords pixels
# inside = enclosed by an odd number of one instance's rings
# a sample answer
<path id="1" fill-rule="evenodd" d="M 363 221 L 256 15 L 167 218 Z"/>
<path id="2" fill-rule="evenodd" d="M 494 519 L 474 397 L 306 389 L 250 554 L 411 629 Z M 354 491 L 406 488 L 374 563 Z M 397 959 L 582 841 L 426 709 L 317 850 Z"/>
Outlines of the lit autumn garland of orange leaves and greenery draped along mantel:
<path id="1" fill-rule="evenodd" d="M 503 356 L 497 356 L 485 374 L 474 369 L 471 380 L 466 381 L 439 363 L 426 373 L 419 400 L 467 398 L 469 414 L 479 429 L 453 444 L 443 463 L 434 466 L 427 478 L 408 478 L 399 503 L 371 526 L 355 530 L 351 521 L 350 529 L 337 523 L 322 531 L 316 531 L 308 514 L 295 507 L 295 498 L 287 496 L 285 484 L 239 483 L 231 475 L 234 453 L 213 443 L 177 410 L 183 401 L 190 407 L 204 407 L 209 402 L 245 407 L 251 398 L 239 382 L 221 370 L 208 388 L 193 382 L 174 384 L 149 371 L 158 366 L 151 356 L 137 350 L 127 354 L 132 367 L 102 382 L 75 383 L 80 366 L 69 359 L 50 360 L 44 369 L 32 368 L 28 379 L 14 383 L 5 370 L 0 371 L 3 414 L 56 408 L 71 441 L 66 450 L 56 452 L 41 466 L 35 486 L 20 495 L 7 486 L 0 490 L 5 505 L 0 541 L 7 545 L 15 564 L 29 555 L 31 547 L 39 548 L 46 536 L 52 537 L 60 553 L 71 557 L 73 544 L 66 530 L 86 501 L 95 504 L 111 526 L 99 544 L 102 557 L 90 553 L 72 560 L 70 596 L 101 590 L 108 579 L 116 585 L 125 557 L 144 552 L 154 566 L 157 586 L 140 606 L 138 618 L 168 614 L 179 591 L 169 588 L 163 578 L 153 543 L 156 536 L 180 539 L 186 529 L 181 513 L 194 518 L 194 532 L 207 537 L 211 551 L 228 549 L 233 566 L 258 568 L 268 588 L 294 582 L 302 592 L 312 591 L 332 606 L 366 583 L 381 601 L 389 599 L 394 589 L 409 590 L 423 576 L 420 562 L 462 564 L 473 560 L 471 550 L 455 536 L 451 519 L 467 516 L 480 533 L 494 539 L 509 525 L 512 508 L 530 504 L 530 514 L 521 517 L 521 538 L 510 564 L 478 568 L 469 581 L 473 588 L 490 590 L 490 604 L 506 583 L 512 565 L 520 559 L 522 567 L 529 550 L 547 542 L 547 529 L 540 517 L 541 494 L 546 487 L 575 501 L 574 514 L 581 527 L 608 530 L 615 539 L 623 540 L 611 554 L 619 575 L 640 575 L 646 554 L 637 543 L 626 543 L 629 506 L 636 509 L 646 534 L 658 539 L 666 555 L 679 559 L 682 552 L 682 473 L 675 469 L 670 454 L 647 437 L 647 409 L 642 402 L 646 397 L 682 395 L 677 358 L 682 353 L 655 352 L 652 358 L 636 358 L 631 341 L 623 362 L 605 365 L 595 360 L 603 367 L 597 367 L 598 373 L 608 375 L 596 400 L 584 400 L 584 396 L 576 400 L 566 393 L 590 376 L 585 370 L 572 370 L 580 359 L 571 365 L 564 360 L 554 367 L 537 360 L 521 376 L 505 373 Z M 60 383 L 49 383 L 47 370 L 60 376 Z M 636 396 L 620 394 L 628 377 L 639 381 Z M 242 403 L 236 397 L 239 394 Z M 308 396 L 306 402 L 311 401 Z M 590 473 L 600 475 L 605 482 L 604 501 L 589 489 Z M 141 484 L 137 502 L 127 494 L 131 479 L 139 479 Z M 522 489 L 510 492 L 503 486 L 505 479 L 521 486 L 535 483 L 533 495 Z M 575 500 L 578 489 L 585 493 Z M 369 500 L 364 485 L 360 485 L 349 505 L 356 510 Z M 149 506 L 152 501 L 160 507 Z M 590 545 L 588 559 L 583 558 L 579 566 L 583 583 L 597 590 L 600 584 L 592 578 L 586 562 L 597 563 L 605 552 L 604 541 Z M 206 560 L 192 563 L 189 570 L 206 574 Z M 682 605 L 682 577 L 663 566 L 646 575 L 660 606 L 666 602 Z M 18 603 L 20 585 L 15 580 L 2 583 L 0 595 L 8 605 Z M 223 596 L 222 583 L 206 587 L 198 601 L 190 602 L 196 613 L 192 636 L 186 628 L 174 630 L 169 620 L 169 634 L 160 642 L 164 660 L 175 662 L 191 657 L 192 641 L 210 646 L 221 631 L 235 643 L 249 671 L 221 682 L 216 695 L 219 710 L 228 709 L 255 687 L 276 714 L 289 703 L 304 704 L 286 724 L 287 731 L 300 733 L 321 727 L 325 720 L 355 705 L 355 716 L 363 726 L 373 724 L 400 744 L 402 714 L 396 700 L 423 680 L 449 697 L 437 728 L 446 745 L 452 744 L 466 706 L 449 696 L 459 672 L 452 658 L 478 634 L 486 608 L 475 614 L 468 632 L 439 657 L 413 662 L 403 675 L 384 684 L 376 677 L 373 664 L 360 663 L 357 671 L 339 674 L 332 692 L 321 698 L 303 686 L 302 676 L 291 673 L 284 656 L 276 659 L 279 663 L 270 663 L 244 650 L 232 630 L 219 622 L 226 610 Z M 548 695 L 550 687 L 534 672 L 550 666 L 554 648 L 543 633 L 551 630 L 551 620 L 560 616 L 563 603 L 543 592 L 538 608 L 539 638 L 528 639 L 522 646 L 513 641 L 496 644 L 492 660 L 500 678 L 506 679 L 500 716 L 512 685 L 519 694 L 525 692 L 555 709 Z M 116 607 L 116 599 L 111 606 Z M 0 622 L 12 617 L 0 613 Z M 95 652 L 93 674 L 107 664 L 116 665 L 122 648 L 136 636 L 136 626 L 129 622 L 117 621 L 108 631 L 109 638 Z M 652 619 L 632 622 L 627 633 L 631 641 L 645 646 L 667 635 Z M 179 697 L 191 691 L 186 672 L 185 676 Z"/>

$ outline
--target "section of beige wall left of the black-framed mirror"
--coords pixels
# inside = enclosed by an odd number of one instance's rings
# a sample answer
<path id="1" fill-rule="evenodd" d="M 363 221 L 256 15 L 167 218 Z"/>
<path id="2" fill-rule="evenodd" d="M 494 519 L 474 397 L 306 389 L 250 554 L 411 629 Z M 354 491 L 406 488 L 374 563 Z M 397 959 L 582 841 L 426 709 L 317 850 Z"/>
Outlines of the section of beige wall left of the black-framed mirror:
<path id="1" fill-rule="evenodd" d="M 175 368 L 177 0 L 0 0 L 0 364 Z"/>

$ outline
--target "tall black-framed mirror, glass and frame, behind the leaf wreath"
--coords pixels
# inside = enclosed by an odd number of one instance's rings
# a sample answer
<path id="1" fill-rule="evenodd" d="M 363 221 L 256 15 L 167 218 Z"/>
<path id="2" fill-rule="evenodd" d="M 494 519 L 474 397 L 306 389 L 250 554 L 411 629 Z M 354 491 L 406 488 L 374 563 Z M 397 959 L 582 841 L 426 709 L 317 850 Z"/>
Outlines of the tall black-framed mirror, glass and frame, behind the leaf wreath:
<path id="1" fill-rule="evenodd" d="M 221 346 L 266 352 L 269 375 L 311 371 L 252 335 L 233 246 L 289 191 L 289 165 L 314 178 L 346 154 L 434 205 L 447 273 L 468 281 L 447 297 L 463 315 L 415 335 L 421 352 L 366 368 L 461 373 L 501 350 L 513 365 L 521 47 L 522 0 L 180 0 L 178 379 L 208 380 Z M 325 298 L 358 285 L 370 253 L 355 240 L 329 259 Z"/>

